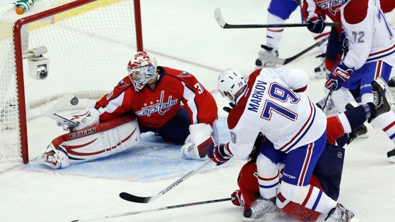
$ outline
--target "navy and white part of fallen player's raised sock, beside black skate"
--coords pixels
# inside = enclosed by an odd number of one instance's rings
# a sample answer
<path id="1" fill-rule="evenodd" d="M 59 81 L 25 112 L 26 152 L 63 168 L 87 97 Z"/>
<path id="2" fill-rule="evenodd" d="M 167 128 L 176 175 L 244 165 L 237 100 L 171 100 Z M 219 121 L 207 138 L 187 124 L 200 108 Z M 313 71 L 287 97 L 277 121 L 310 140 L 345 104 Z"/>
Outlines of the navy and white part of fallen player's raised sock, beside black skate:
<path id="1" fill-rule="evenodd" d="M 338 117 L 344 127 L 344 132 L 349 133 L 359 128 L 370 117 L 375 116 L 375 113 L 375 105 L 368 102 L 367 104 L 346 110 L 340 113 Z"/>

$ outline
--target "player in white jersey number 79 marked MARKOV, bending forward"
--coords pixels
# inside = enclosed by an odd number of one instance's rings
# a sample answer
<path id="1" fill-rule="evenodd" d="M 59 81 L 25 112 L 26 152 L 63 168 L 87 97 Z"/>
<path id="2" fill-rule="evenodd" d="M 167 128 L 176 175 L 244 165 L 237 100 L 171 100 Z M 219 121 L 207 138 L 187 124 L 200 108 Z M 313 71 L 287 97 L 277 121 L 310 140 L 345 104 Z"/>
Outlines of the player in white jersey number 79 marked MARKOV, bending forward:
<path id="1" fill-rule="evenodd" d="M 298 69 L 262 68 L 251 73 L 248 82 L 238 71 L 225 70 L 219 75 L 218 89 L 235 104 L 228 116 L 231 142 L 210 149 L 208 156 L 217 165 L 233 156 L 246 159 L 262 132 L 270 142 L 257 157 L 260 214 L 276 209 L 279 189 L 286 199 L 332 216 L 334 221 L 350 221 L 351 211 L 308 185 L 326 143 L 327 121 L 304 93 L 307 85 L 308 76 Z M 281 185 L 280 162 L 284 164 Z M 244 216 L 244 221 L 256 219 L 254 214 Z"/>

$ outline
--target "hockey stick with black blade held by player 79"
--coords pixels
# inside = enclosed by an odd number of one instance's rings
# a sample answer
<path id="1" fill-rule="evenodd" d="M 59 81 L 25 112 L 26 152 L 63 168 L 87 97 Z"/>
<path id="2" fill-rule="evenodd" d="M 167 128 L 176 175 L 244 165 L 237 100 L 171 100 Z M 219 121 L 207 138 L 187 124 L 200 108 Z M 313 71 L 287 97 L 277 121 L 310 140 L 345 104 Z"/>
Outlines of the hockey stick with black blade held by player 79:
<path id="1" fill-rule="evenodd" d="M 148 202 L 152 202 L 152 201 L 154 201 L 154 199 L 157 199 L 158 197 L 161 197 L 162 195 L 164 195 L 166 192 L 169 192 L 171 189 L 176 187 L 176 185 L 183 183 L 184 180 L 186 180 L 187 178 L 190 178 L 190 176 L 197 173 L 197 171 L 200 171 L 200 169 L 203 166 L 205 166 L 206 164 L 208 164 L 210 161 L 211 161 L 211 159 L 207 159 L 203 164 L 201 164 L 200 166 L 197 166 L 197 168 L 193 169 L 192 171 L 190 171 L 189 173 L 184 175 L 182 178 L 179 178 L 176 182 L 169 185 L 169 187 L 164 188 L 164 190 L 160 191 L 157 195 L 154 195 L 151 197 L 138 197 L 135 195 L 130 195 L 127 192 L 121 192 L 119 194 L 119 197 L 121 197 L 122 199 L 125 199 L 128 202 L 144 203 L 144 204 L 148 203 Z"/>

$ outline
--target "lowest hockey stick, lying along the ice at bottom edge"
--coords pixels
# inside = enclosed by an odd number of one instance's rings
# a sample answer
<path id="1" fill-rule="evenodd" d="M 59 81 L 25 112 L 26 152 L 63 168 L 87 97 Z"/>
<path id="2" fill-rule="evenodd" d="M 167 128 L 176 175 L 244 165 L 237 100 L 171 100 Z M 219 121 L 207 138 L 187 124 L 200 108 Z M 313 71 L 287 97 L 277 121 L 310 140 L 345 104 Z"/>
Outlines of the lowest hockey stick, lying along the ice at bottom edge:
<path id="1" fill-rule="evenodd" d="M 141 211 L 131 211 L 131 212 L 128 212 L 128 213 L 123 213 L 123 214 L 114 214 L 114 215 L 110 215 L 110 216 L 90 218 L 90 219 L 86 219 L 86 220 L 74 220 L 74 221 L 71 221 L 71 222 L 97 221 L 97 220 L 102 220 L 102 219 L 106 219 L 106 218 L 116 218 L 116 217 L 120 217 L 120 216 L 144 214 L 144 213 L 154 212 L 154 211 L 163 211 L 163 210 L 166 210 L 166 209 L 175 209 L 175 208 L 186 207 L 186 206 L 196 206 L 196 205 L 200 205 L 200 204 L 212 204 L 212 203 L 217 203 L 217 202 L 225 202 L 225 201 L 229 201 L 229 200 L 232 200 L 232 198 L 229 197 L 229 198 L 223 198 L 223 199 L 211 199 L 211 200 L 206 200 L 206 201 L 202 201 L 202 202 L 193 202 L 193 203 L 188 203 L 188 204 L 178 204 L 178 205 L 173 205 L 173 206 L 164 206 L 164 207 L 156 208 L 156 209 L 146 209 L 146 210 L 141 210 Z"/>

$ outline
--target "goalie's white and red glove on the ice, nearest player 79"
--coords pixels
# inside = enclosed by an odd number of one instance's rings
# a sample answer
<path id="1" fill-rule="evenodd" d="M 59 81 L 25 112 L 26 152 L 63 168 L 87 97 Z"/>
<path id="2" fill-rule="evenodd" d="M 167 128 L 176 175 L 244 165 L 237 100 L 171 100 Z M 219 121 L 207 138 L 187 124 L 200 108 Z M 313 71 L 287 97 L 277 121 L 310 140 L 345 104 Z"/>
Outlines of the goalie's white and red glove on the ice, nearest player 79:
<path id="1" fill-rule="evenodd" d="M 212 127 L 206 123 L 192 124 L 189 126 L 190 135 L 186 138 L 186 142 L 181 147 L 181 154 L 186 159 L 202 159 L 205 158 L 215 142 L 212 135 Z"/>

